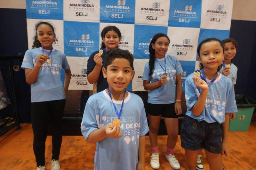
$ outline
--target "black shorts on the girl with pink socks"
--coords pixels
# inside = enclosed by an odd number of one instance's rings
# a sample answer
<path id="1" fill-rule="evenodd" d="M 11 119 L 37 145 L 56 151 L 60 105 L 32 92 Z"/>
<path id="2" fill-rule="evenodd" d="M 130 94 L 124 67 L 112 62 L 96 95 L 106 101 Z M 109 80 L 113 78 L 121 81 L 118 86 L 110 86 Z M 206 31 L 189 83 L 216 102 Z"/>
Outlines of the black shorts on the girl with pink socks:
<path id="1" fill-rule="evenodd" d="M 152 116 L 160 116 L 166 118 L 178 118 L 174 110 L 174 104 L 151 104 L 147 103 L 148 114 Z"/>

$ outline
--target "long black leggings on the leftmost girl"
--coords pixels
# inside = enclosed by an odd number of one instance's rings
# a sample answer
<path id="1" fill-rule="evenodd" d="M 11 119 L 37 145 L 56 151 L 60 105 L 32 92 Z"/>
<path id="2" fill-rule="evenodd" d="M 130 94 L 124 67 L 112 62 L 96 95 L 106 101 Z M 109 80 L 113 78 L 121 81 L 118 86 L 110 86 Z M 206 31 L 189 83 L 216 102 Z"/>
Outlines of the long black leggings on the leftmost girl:
<path id="1" fill-rule="evenodd" d="M 44 152 L 48 120 L 52 124 L 52 159 L 58 160 L 62 142 L 61 123 L 65 99 L 31 103 L 31 121 L 34 133 L 33 149 L 36 165 L 45 165 Z"/>

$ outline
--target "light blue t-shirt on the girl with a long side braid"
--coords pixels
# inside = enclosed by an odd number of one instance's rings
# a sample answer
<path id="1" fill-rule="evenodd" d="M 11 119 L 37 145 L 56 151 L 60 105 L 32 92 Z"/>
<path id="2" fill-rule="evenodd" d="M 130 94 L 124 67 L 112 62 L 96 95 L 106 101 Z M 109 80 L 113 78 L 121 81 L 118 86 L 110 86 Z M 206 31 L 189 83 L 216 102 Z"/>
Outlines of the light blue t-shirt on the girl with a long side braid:
<path id="1" fill-rule="evenodd" d="M 176 75 L 183 72 L 179 60 L 171 55 L 165 55 L 167 84 L 157 87 L 148 92 L 148 103 L 151 104 L 170 104 L 176 102 Z M 158 62 L 164 68 L 164 58 L 158 59 Z M 164 70 L 157 61 L 152 70 L 153 74 L 149 76 L 149 62 L 145 64 L 142 79 L 155 83 L 164 75 Z"/>

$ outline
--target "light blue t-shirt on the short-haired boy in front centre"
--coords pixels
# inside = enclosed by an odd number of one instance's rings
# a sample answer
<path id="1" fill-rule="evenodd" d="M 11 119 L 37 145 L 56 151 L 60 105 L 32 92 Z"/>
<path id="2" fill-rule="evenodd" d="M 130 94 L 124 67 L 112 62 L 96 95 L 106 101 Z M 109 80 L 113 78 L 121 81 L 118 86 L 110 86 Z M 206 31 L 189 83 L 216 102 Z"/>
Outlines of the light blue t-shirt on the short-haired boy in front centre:
<path id="1" fill-rule="evenodd" d="M 122 101 L 113 100 L 118 112 Z M 81 130 L 87 140 L 89 134 L 117 119 L 113 103 L 106 90 L 93 94 L 88 99 Z M 128 92 L 121 115 L 120 138 L 105 137 L 96 143 L 95 170 L 135 170 L 138 163 L 139 137 L 148 132 L 148 122 L 141 98 Z"/>

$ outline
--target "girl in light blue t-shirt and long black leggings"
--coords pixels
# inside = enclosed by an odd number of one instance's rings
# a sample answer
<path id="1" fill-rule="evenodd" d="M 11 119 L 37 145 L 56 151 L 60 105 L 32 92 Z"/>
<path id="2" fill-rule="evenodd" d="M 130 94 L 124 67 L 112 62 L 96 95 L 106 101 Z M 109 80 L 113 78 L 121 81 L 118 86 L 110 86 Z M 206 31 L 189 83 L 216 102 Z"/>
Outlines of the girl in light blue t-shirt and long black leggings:
<path id="1" fill-rule="evenodd" d="M 21 67 L 26 82 L 31 85 L 31 121 L 34 133 L 33 149 L 37 170 L 45 169 L 45 140 L 48 120 L 52 123 L 52 170 L 60 170 L 61 122 L 68 85 L 71 78 L 64 53 L 52 47 L 56 35 L 47 22 L 36 25 L 33 49 L 26 51 Z M 65 85 L 61 82 L 61 69 L 65 70 Z"/>

